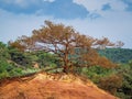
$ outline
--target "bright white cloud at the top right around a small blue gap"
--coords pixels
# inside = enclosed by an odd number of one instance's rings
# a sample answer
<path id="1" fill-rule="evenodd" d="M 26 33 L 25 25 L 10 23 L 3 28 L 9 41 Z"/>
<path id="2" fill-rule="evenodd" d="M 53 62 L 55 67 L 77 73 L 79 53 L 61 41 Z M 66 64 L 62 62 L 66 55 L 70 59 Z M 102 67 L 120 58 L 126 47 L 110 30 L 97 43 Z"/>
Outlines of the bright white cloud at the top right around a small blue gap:
<path id="1" fill-rule="evenodd" d="M 107 3 L 110 4 L 112 11 L 124 11 L 128 7 L 124 2 L 121 0 L 73 0 L 73 2 L 77 4 L 84 6 L 91 14 L 98 13 L 102 16 L 105 16 L 105 13 L 108 13 L 108 11 L 102 11 L 102 7 Z"/>

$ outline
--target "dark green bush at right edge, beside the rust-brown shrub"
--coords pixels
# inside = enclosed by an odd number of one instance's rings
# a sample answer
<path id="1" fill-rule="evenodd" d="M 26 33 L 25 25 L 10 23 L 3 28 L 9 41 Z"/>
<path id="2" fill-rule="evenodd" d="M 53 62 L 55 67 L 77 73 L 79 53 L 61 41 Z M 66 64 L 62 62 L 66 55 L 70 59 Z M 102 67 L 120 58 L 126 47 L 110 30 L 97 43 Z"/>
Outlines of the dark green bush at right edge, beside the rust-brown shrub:
<path id="1" fill-rule="evenodd" d="M 122 99 L 132 99 L 132 64 L 122 65 L 117 69 L 123 77 L 122 86 L 118 89 L 117 96 Z"/>

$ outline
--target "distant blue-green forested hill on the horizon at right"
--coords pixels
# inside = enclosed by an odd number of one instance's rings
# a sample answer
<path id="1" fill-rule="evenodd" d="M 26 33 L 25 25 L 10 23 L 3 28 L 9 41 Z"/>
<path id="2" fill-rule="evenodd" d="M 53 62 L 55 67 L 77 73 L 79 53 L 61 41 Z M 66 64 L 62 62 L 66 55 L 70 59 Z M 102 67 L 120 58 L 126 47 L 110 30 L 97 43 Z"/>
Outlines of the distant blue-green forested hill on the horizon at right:
<path id="1" fill-rule="evenodd" d="M 114 63 L 128 63 L 132 59 L 132 50 L 130 48 L 106 48 L 99 50 L 98 53 Z"/>

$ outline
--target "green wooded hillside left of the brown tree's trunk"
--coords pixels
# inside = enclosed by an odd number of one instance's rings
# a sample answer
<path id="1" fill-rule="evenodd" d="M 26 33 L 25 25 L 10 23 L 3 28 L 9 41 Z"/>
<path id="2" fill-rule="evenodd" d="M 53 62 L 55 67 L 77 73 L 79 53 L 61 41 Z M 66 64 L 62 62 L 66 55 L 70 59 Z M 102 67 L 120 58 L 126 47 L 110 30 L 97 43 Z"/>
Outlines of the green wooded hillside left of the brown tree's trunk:
<path id="1" fill-rule="evenodd" d="M 59 59 L 51 53 L 22 52 L 0 42 L 0 79 L 40 72 L 32 67 L 33 63 L 38 63 L 42 68 L 54 68 L 59 65 Z"/>

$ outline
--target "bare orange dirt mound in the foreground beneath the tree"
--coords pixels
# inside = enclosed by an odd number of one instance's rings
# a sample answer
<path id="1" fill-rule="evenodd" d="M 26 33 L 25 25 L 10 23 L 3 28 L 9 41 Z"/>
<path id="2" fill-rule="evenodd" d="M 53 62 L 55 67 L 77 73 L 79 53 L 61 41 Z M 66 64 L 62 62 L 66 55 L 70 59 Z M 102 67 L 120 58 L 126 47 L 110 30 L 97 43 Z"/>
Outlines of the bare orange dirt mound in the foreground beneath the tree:
<path id="1" fill-rule="evenodd" d="M 0 82 L 0 99 L 117 99 L 90 80 L 74 75 L 40 73 Z"/>

